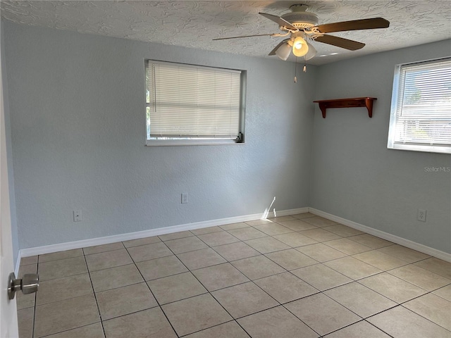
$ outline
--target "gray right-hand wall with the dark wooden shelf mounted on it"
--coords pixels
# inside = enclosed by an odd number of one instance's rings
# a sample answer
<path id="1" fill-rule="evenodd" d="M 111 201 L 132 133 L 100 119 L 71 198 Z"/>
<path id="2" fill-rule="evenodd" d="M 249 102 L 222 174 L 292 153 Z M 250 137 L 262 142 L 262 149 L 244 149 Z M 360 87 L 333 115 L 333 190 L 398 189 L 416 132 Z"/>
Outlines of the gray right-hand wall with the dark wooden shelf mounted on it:
<path id="1" fill-rule="evenodd" d="M 373 96 L 366 108 L 315 108 L 310 206 L 451 253 L 449 154 L 387 149 L 393 73 L 398 63 L 450 55 L 451 40 L 319 67 L 315 99 Z M 427 210 L 426 223 L 416 220 Z"/>

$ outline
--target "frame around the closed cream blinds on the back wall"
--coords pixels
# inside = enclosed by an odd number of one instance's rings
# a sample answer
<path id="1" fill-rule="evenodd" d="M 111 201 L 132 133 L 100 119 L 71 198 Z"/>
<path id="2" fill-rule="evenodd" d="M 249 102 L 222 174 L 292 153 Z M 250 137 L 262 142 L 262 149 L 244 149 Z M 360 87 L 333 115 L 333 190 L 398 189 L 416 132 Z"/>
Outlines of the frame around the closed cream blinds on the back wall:
<path id="1" fill-rule="evenodd" d="M 174 137 L 161 136 L 149 138 L 149 118 L 147 118 L 147 108 L 152 106 L 152 101 L 147 102 L 147 77 L 146 72 L 149 63 L 161 63 L 168 65 L 178 65 L 187 68 L 209 68 L 221 72 L 230 71 L 230 73 L 240 73 L 240 103 L 238 116 L 238 137 Z M 190 145 L 219 145 L 219 144 L 245 144 L 245 101 L 246 101 L 246 82 L 247 71 L 232 68 L 219 68 L 208 65 L 194 65 L 189 63 L 177 63 L 170 61 L 159 61 L 153 59 L 144 59 L 144 111 L 146 112 L 146 146 L 190 146 Z"/>

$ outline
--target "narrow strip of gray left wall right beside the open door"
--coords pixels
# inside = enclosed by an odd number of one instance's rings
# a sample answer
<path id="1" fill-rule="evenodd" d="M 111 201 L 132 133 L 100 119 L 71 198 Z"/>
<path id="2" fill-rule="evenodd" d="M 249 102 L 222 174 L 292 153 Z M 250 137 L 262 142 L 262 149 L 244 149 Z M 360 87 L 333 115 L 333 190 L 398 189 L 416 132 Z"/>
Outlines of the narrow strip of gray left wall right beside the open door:
<path id="1" fill-rule="evenodd" d="M 13 173 L 13 158 L 11 148 L 11 123 L 8 104 L 8 81 L 6 80 L 6 64 L 5 64 L 5 49 L 4 49 L 4 29 L 3 20 L 0 18 L 0 53 L 1 53 L 1 79 L 3 84 L 4 101 L 0 104 L 4 105 L 5 113 L 5 137 L 6 137 L 6 161 L 8 161 L 8 185 L 9 185 L 9 205 L 11 209 L 11 237 L 13 240 L 13 262 L 16 266 L 16 261 L 19 251 L 19 239 L 16 222 L 16 195 L 14 192 L 14 173 Z"/>

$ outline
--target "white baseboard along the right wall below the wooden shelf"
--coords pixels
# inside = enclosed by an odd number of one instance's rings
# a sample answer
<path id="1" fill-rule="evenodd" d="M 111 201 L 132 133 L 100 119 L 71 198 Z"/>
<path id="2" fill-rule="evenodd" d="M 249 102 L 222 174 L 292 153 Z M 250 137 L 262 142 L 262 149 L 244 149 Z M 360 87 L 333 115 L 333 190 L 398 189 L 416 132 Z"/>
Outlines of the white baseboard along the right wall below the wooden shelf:
<path id="1" fill-rule="evenodd" d="M 437 249 L 433 249 L 424 244 L 419 244 L 416 242 L 412 242 L 409 239 L 404 239 L 402 237 L 395 236 L 394 234 L 389 234 L 388 232 L 383 232 L 381 230 L 374 229 L 372 227 L 367 227 L 366 225 L 362 225 L 359 223 L 352 222 L 352 220 L 346 220 L 345 218 L 341 218 L 330 213 L 325 213 L 324 211 L 317 210 L 315 208 L 309 208 L 309 212 L 314 215 L 321 216 L 323 218 L 327 218 L 328 220 L 333 220 L 334 222 L 347 225 L 348 227 L 352 227 L 354 229 L 366 232 L 367 234 L 372 234 L 373 236 L 386 239 L 390 242 L 400 244 L 402 246 L 407 246 L 407 248 L 414 249 L 416 251 L 420 251 L 422 253 L 426 253 L 430 256 L 434 256 L 436 258 L 443 259 L 443 261 L 451 262 L 451 253 L 447 253 L 445 251 L 440 251 Z"/>

